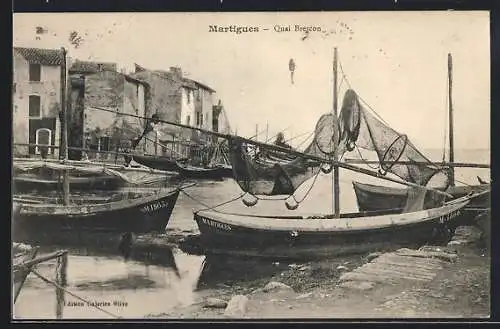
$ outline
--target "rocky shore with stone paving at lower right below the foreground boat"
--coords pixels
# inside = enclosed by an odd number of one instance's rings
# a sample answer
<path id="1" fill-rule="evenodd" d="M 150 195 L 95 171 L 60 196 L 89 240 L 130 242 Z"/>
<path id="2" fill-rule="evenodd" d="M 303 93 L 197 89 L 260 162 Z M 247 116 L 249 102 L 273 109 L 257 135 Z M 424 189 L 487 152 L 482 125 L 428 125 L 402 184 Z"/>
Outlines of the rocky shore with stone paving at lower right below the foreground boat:
<path id="1" fill-rule="evenodd" d="M 487 318 L 491 280 L 484 238 L 475 227 L 459 227 L 446 246 L 289 264 L 270 279 L 227 285 L 147 317 Z"/>

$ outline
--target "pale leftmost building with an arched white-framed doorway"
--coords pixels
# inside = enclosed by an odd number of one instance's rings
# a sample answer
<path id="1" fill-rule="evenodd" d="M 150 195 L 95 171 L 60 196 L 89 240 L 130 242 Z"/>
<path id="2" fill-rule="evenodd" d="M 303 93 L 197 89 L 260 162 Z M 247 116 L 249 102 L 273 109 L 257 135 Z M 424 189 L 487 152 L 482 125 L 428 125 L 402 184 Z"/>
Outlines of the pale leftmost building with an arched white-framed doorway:
<path id="1" fill-rule="evenodd" d="M 14 47 L 14 156 L 40 156 L 40 147 L 19 144 L 59 145 L 63 62 L 61 50 Z M 48 148 L 47 152 L 48 157 L 58 156 L 55 148 Z"/>

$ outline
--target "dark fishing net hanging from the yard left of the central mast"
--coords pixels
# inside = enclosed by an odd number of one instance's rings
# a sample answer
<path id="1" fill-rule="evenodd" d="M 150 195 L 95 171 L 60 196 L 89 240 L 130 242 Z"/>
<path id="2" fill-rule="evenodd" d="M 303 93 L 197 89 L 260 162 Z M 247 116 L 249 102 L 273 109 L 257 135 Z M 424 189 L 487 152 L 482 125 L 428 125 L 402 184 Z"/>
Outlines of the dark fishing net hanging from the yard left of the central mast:
<path id="1" fill-rule="evenodd" d="M 321 160 L 327 160 L 338 145 L 337 120 L 332 114 L 321 116 L 316 124 L 314 140 L 302 152 L 316 157 L 311 160 L 272 146 L 252 146 L 241 138 L 229 140 L 233 175 L 240 188 L 252 195 L 292 195 L 302 183 L 329 171 Z"/>

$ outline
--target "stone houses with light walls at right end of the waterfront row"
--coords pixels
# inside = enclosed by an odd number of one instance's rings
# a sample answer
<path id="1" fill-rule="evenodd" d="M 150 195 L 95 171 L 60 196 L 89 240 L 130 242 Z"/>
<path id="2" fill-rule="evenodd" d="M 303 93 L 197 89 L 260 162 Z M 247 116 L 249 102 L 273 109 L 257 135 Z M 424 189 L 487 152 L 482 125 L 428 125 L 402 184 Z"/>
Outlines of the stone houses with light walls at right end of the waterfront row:
<path id="1" fill-rule="evenodd" d="M 133 77 L 145 81 L 150 86 L 147 95 L 147 116 L 158 114 L 162 120 L 203 128 L 212 131 L 229 132 L 229 122 L 223 107 L 214 104 L 215 90 L 198 81 L 183 77 L 181 68 L 171 67 L 169 71 L 150 70 L 136 64 Z M 214 107 L 215 106 L 215 107 Z M 215 115 L 214 115 L 215 114 Z M 190 129 L 172 125 L 160 125 L 156 132 L 149 134 L 144 141 L 146 153 L 176 154 L 187 156 L 190 145 L 211 140 Z M 150 146 L 159 141 L 162 147 Z"/>

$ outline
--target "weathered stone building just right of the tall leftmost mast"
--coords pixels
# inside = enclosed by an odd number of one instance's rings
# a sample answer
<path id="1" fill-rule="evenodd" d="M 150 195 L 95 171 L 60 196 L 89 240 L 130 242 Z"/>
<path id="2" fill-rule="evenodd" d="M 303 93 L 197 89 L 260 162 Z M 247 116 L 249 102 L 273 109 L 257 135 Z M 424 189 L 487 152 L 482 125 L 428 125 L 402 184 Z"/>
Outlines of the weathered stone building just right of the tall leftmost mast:
<path id="1" fill-rule="evenodd" d="M 89 149 L 86 156 L 99 159 L 110 159 L 112 154 L 95 151 L 126 148 L 144 130 L 145 120 L 140 118 L 146 116 L 148 88 L 147 83 L 116 71 L 72 75 L 71 123 L 75 133 L 70 145 Z"/>

